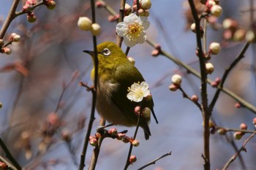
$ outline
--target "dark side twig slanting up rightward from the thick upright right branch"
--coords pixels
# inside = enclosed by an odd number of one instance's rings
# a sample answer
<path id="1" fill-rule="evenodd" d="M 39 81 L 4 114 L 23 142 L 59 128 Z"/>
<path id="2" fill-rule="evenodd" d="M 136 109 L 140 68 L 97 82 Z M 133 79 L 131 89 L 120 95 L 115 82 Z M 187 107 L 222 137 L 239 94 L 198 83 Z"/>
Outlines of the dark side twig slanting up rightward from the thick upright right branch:
<path id="1" fill-rule="evenodd" d="M 214 105 L 216 104 L 217 99 L 219 98 L 219 93 L 223 88 L 224 82 L 227 79 L 227 75 L 230 73 L 230 71 L 236 66 L 236 64 L 241 61 L 242 58 L 244 58 L 244 53 L 248 49 L 250 43 L 247 42 L 246 45 L 244 46 L 243 50 L 239 53 L 238 57 L 236 60 L 233 61 L 233 63 L 230 64 L 230 66 L 225 70 L 223 76 L 222 76 L 222 81 L 219 83 L 219 87 L 215 92 L 214 98 L 211 101 L 211 104 L 209 106 L 209 109 L 212 111 L 214 109 Z"/>

